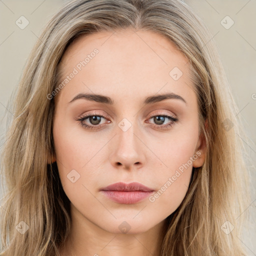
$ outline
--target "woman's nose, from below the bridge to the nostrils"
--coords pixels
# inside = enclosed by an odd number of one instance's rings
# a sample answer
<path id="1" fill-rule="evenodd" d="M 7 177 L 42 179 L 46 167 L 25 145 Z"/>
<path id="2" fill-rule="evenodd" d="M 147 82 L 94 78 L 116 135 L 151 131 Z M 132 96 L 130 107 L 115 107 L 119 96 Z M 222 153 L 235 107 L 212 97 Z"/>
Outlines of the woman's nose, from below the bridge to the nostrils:
<path id="1" fill-rule="evenodd" d="M 117 134 L 109 145 L 109 160 L 115 168 L 134 169 L 141 168 L 144 164 L 145 145 L 139 135 L 134 133 L 133 127 L 131 125 L 126 131 L 116 127 Z"/>

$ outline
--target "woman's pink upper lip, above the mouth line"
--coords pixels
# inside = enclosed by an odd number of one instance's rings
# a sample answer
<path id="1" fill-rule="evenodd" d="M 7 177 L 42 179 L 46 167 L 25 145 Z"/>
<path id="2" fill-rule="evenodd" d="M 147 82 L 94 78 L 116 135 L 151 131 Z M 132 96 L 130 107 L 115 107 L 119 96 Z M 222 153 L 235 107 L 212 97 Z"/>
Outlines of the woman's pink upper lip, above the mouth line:
<path id="1" fill-rule="evenodd" d="M 149 188 L 141 183 L 138 182 L 131 182 L 131 183 L 124 183 L 124 182 L 117 182 L 111 185 L 108 185 L 100 190 L 104 191 L 154 191 L 154 189 Z"/>

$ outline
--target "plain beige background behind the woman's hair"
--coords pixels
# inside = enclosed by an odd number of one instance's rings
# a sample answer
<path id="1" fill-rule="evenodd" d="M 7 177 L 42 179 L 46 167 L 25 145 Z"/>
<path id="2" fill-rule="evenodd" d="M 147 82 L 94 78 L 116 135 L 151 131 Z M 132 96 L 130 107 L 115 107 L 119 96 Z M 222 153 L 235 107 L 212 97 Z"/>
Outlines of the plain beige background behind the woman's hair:
<path id="1" fill-rule="evenodd" d="M 4 143 L 8 99 L 15 89 L 21 72 L 43 24 L 66 0 L 0 0 L 0 146 Z M 233 95 L 238 105 L 238 115 L 243 120 L 250 138 L 246 148 L 256 165 L 256 1 L 255 0 L 185 0 L 203 19 L 212 33 L 224 64 Z M 25 16 L 29 24 L 20 29 L 15 21 Z M 221 20 L 229 16 L 234 24 L 226 29 Z M 225 19 L 224 19 L 225 20 Z M 227 25 L 231 20 L 227 20 Z M 4 114 L 7 113 L 7 114 Z M 251 189 L 255 188 L 255 167 L 250 167 Z M 242 178 L 242 177 L 241 177 Z M 244 212 L 251 212 L 251 229 L 239 237 L 256 255 L 255 206 L 253 191 L 251 204 Z M 0 191 L 0 198 L 2 197 Z M 254 229 L 254 230 L 253 230 Z"/>

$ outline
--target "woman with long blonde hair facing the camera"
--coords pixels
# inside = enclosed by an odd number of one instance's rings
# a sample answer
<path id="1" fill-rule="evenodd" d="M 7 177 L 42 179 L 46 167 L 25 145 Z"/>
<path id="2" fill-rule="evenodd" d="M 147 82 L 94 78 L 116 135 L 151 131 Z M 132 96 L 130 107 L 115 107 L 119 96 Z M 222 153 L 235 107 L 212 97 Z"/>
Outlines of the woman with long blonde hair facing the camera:
<path id="1" fill-rule="evenodd" d="M 238 111 L 184 2 L 68 2 L 13 111 L 1 256 L 245 255 Z"/>

